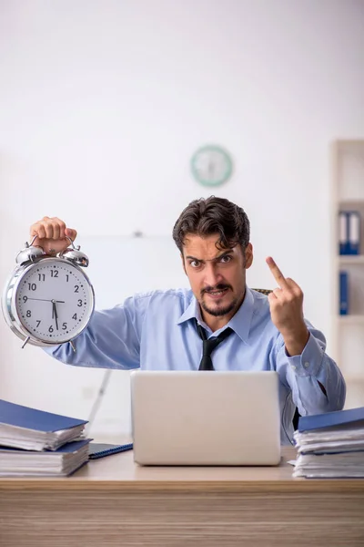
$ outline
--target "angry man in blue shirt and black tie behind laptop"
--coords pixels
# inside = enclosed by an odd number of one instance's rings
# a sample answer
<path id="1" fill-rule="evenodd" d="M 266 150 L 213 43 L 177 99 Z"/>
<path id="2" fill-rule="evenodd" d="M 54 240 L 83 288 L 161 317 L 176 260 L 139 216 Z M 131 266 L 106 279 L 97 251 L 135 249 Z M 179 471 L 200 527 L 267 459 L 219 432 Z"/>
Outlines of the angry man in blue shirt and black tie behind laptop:
<path id="1" fill-rule="evenodd" d="M 296 407 L 302 416 L 339 410 L 346 387 L 325 353 L 324 335 L 303 316 L 298 284 L 269 257 L 278 287 L 267 297 L 246 285 L 253 262 L 249 232 L 247 214 L 238 205 L 214 196 L 192 201 L 173 230 L 191 290 L 136 294 L 96 311 L 75 339 L 76 353 L 70 344 L 45 351 L 77 366 L 277 370 L 281 442 L 291 442 Z M 30 234 L 50 254 L 66 248 L 66 235 L 76 238 L 65 222 L 48 217 L 35 222 Z M 208 343 L 213 351 L 207 351 L 207 339 L 216 340 Z"/>

